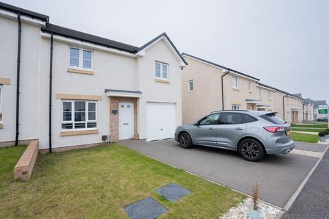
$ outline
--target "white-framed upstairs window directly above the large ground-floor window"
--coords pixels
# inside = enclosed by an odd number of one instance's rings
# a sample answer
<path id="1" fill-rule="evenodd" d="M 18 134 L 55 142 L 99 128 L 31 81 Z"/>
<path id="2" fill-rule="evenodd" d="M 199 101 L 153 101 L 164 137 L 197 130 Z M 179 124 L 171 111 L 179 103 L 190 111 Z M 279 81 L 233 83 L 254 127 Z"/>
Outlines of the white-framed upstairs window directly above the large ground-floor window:
<path id="1" fill-rule="evenodd" d="M 70 47 L 70 67 L 74 68 L 93 68 L 93 52 L 86 49 L 77 49 Z"/>

